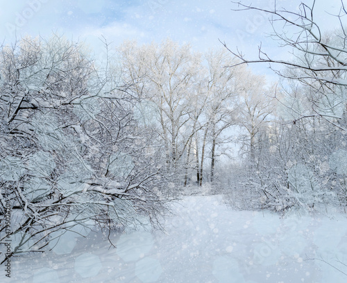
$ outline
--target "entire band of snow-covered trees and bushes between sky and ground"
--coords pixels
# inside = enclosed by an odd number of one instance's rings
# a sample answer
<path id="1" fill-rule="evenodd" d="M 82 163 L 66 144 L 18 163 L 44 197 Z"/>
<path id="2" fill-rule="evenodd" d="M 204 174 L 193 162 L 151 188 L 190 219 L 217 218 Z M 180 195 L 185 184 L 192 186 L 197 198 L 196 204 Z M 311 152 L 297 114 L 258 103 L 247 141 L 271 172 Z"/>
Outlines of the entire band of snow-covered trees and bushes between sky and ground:
<path id="1" fill-rule="evenodd" d="M 63 35 L 1 46 L 0 241 L 12 239 L 1 264 L 66 231 L 162 229 L 184 195 L 279 215 L 344 211 L 347 37 L 342 24 L 321 33 L 312 9 L 296 22 L 262 11 L 296 29 L 274 33 L 294 48 L 288 61 L 169 38 L 105 40 L 103 61 Z M 282 66 L 278 81 L 253 62 Z"/>

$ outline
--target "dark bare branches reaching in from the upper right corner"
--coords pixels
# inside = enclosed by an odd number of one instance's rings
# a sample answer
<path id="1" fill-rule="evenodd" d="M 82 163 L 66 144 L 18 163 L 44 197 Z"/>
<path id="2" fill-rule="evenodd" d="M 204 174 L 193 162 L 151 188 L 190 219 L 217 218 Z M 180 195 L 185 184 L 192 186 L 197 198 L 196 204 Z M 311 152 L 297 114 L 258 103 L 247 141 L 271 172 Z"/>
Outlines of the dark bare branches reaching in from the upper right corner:
<path id="1" fill-rule="evenodd" d="M 346 130 L 344 125 L 336 122 L 341 120 L 341 115 L 327 113 L 326 105 L 323 106 L 322 100 L 325 99 L 326 92 L 334 93 L 337 88 L 346 88 L 346 29 L 345 17 L 346 8 L 344 1 L 341 1 L 341 8 L 337 15 L 330 17 L 338 19 L 340 26 L 336 31 L 327 34 L 323 26 L 316 20 L 316 1 L 308 6 L 301 3 L 299 12 L 280 8 L 276 1 L 273 10 L 266 10 L 242 2 L 232 2 L 239 8 L 235 11 L 257 10 L 269 15 L 269 21 L 273 27 L 272 37 L 280 42 L 281 47 L 293 49 L 291 60 L 277 60 L 267 54 L 260 45 L 259 56 L 257 59 L 245 58 L 240 51 L 229 51 L 240 59 L 238 64 L 244 63 L 270 63 L 277 74 L 288 79 L 295 79 L 310 86 L 313 90 L 310 102 L 312 112 L 302 114 L 298 119 L 305 117 L 319 116 L 326 118 L 331 124 Z M 224 44 L 226 46 L 226 44 Z M 228 47 L 227 47 L 228 48 Z M 237 64 L 236 64 L 237 65 Z M 283 70 L 276 70 L 275 65 L 287 67 Z M 338 94 L 337 94 L 338 95 Z M 340 103 L 341 99 L 330 99 L 331 103 Z M 335 105 L 336 106 L 336 105 Z M 335 107 L 330 105 L 330 108 Z M 330 118 L 335 118 L 330 119 Z"/>

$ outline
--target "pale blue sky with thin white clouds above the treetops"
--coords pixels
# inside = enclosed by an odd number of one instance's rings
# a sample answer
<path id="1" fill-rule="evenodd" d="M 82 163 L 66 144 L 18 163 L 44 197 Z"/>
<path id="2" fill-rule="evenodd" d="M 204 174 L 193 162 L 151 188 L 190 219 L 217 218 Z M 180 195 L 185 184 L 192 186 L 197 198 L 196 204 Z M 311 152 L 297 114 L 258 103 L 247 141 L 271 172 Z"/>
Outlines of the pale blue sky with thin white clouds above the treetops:
<path id="1" fill-rule="evenodd" d="M 310 4 L 312 1 L 305 1 Z M 339 23 L 328 13 L 339 13 L 340 0 L 317 0 L 317 19 L 327 29 Z M 273 8 L 273 0 L 245 0 L 260 8 Z M 277 7 L 298 11 L 300 1 L 277 0 Z M 271 24 L 257 11 L 235 12 L 229 0 L 0 0 L 0 40 L 13 43 L 26 35 L 48 38 L 52 33 L 86 42 L 104 56 L 101 38 L 113 46 L 124 40 L 139 43 L 171 38 L 189 43 L 197 51 L 222 48 L 241 50 L 248 58 L 257 57 L 257 47 L 274 56 L 285 56 L 267 35 Z M 267 66 L 266 66 L 267 67 Z M 254 67 L 255 72 L 264 72 Z M 265 71 L 266 72 L 266 71 Z M 269 74 L 266 72 L 266 74 Z"/>

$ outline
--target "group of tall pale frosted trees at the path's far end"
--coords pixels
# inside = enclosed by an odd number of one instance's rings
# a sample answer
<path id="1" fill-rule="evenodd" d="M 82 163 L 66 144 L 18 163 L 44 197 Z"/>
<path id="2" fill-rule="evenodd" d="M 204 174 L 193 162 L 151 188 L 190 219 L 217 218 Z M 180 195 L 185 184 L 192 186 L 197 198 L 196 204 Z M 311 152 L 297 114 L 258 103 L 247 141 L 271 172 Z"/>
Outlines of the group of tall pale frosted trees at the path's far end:
<path id="1" fill-rule="evenodd" d="M 273 112 L 274 88 L 263 76 L 230 67 L 238 61 L 226 49 L 200 54 L 165 40 L 125 42 L 118 52 L 122 78 L 145 103 L 139 106 L 143 123 L 158 131 L 166 171 L 176 184 L 213 183 L 220 157 L 235 156 L 230 144 L 236 128 L 254 162 L 255 135 Z"/>

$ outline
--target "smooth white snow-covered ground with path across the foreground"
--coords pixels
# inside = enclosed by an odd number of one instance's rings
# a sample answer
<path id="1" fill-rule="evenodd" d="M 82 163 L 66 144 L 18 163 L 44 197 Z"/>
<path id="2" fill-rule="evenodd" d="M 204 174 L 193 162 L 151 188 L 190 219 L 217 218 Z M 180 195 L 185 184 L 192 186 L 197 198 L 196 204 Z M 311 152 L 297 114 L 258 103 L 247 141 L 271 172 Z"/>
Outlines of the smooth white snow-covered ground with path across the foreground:
<path id="1" fill-rule="evenodd" d="M 347 273 L 344 215 L 233 211 L 220 196 L 185 197 L 174 211 L 166 233 L 110 235 L 117 248 L 100 233 L 66 234 L 51 252 L 12 259 L 0 282 L 347 282 L 336 269 Z"/>

